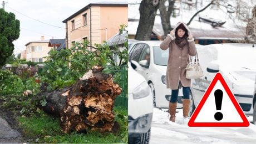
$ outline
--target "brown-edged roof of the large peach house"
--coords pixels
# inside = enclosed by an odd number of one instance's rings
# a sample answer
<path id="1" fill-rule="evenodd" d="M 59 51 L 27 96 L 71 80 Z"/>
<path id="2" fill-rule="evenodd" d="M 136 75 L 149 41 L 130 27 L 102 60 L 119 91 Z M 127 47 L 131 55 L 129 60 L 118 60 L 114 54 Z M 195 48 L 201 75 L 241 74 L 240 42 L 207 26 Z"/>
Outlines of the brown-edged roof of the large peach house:
<path id="1" fill-rule="evenodd" d="M 76 13 L 72 14 L 70 17 L 66 18 L 65 20 L 62 21 L 62 23 L 66 23 L 68 20 L 72 19 L 73 17 L 77 16 L 78 14 L 86 11 L 88 8 L 92 6 L 116 6 L 116 7 L 128 7 L 128 3 L 126 0 L 120 0 L 120 1 L 102 1 L 102 2 L 93 2 L 88 4 L 87 6 L 83 7 Z"/>

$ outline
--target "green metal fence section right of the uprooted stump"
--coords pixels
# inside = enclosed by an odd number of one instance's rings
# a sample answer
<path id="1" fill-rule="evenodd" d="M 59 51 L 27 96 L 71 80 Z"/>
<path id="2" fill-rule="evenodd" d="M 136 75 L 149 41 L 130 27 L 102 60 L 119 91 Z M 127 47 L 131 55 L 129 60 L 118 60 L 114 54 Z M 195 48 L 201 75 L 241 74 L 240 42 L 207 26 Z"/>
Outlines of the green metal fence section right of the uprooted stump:
<path id="1" fill-rule="evenodd" d="M 115 105 L 128 107 L 128 67 L 105 66 L 103 72 L 111 74 L 114 83 L 117 83 L 122 88 L 121 95 L 116 97 Z"/>

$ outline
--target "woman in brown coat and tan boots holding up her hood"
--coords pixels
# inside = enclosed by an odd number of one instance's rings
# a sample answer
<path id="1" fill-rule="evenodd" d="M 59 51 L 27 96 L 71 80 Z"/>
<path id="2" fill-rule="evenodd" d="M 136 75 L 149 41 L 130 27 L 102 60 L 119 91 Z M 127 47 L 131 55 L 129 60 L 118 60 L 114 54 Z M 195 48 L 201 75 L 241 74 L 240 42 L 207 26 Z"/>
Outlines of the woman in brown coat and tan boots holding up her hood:
<path id="1" fill-rule="evenodd" d="M 196 48 L 193 35 L 188 26 L 179 22 L 170 34 L 160 44 L 160 48 L 169 48 L 169 59 L 166 71 L 166 87 L 171 89 L 171 100 L 169 102 L 170 121 L 175 122 L 177 99 L 180 85 L 183 86 L 183 116 L 188 117 L 189 94 L 191 79 L 186 79 L 186 65 L 189 54 L 196 55 Z"/>

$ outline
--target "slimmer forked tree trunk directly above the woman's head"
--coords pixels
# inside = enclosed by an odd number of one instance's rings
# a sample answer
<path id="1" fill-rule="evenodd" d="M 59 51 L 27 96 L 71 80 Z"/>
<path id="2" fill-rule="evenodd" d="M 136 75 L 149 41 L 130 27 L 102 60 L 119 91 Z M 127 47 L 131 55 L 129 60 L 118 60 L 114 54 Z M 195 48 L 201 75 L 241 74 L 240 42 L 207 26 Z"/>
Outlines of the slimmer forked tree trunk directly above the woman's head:
<path id="1" fill-rule="evenodd" d="M 164 29 L 164 35 L 167 35 L 171 31 L 170 18 L 171 18 L 171 14 L 173 13 L 173 7 L 174 7 L 175 0 L 173 0 L 173 1 L 168 0 L 168 2 L 169 2 L 168 11 L 166 11 L 165 2 L 166 2 L 166 0 L 160 1 L 159 11 L 160 11 L 160 17 L 161 17 L 161 21 L 162 21 L 162 27 Z"/>

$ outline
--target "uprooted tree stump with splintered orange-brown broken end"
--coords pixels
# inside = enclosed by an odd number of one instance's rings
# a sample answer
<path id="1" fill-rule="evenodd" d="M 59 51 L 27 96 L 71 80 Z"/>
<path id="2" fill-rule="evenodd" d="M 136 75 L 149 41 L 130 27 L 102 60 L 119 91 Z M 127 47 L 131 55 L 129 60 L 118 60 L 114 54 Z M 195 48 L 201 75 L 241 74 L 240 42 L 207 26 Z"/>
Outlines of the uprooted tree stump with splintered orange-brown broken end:
<path id="1" fill-rule="evenodd" d="M 115 118 L 112 110 L 122 89 L 113 83 L 110 74 L 104 74 L 102 70 L 101 66 L 93 66 L 71 88 L 42 91 L 36 96 L 37 101 L 40 100 L 38 97 L 46 97 L 47 103 L 41 108 L 61 117 L 63 132 L 112 130 Z"/>

